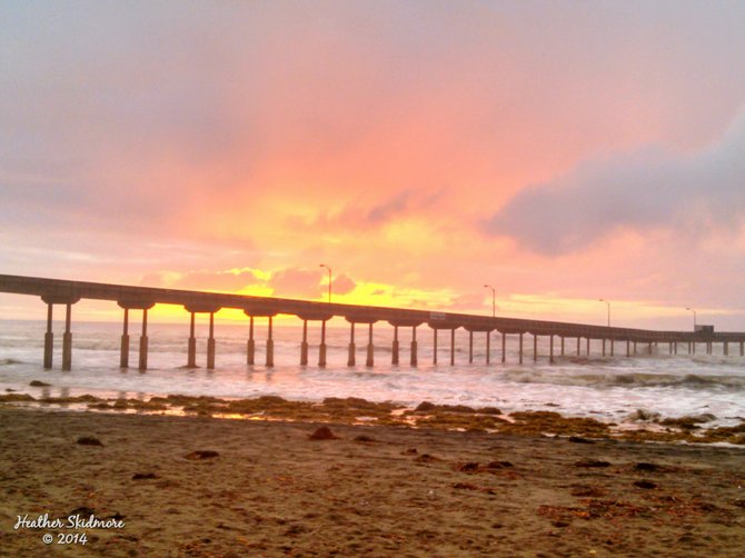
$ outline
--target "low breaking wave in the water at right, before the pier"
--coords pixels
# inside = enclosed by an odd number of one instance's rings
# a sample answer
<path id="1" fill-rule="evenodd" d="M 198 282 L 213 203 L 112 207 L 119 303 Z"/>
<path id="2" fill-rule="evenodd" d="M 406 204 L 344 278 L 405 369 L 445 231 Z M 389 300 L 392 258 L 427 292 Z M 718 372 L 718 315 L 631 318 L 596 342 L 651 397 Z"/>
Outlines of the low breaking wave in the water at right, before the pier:
<path id="1" fill-rule="evenodd" d="M 687 389 L 743 389 L 743 376 L 704 376 L 696 373 L 562 373 L 554 371 L 538 371 L 513 369 L 504 372 L 504 379 L 516 383 L 552 383 L 558 386 L 585 386 L 593 388 L 687 388 Z"/>

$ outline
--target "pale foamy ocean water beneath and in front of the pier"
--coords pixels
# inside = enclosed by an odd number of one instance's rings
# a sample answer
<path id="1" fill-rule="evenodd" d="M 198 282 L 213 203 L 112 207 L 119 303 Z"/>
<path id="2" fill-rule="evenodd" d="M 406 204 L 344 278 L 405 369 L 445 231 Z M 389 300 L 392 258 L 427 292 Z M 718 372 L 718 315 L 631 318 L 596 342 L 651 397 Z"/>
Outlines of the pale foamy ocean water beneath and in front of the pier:
<path id="1" fill-rule="evenodd" d="M 421 401 L 498 407 L 503 412 L 553 410 L 572 417 L 594 417 L 623 424 L 638 409 L 663 418 L 709 413 L 711 426 L 732 426 L 745 418 L 745 358 L 731 346 L 714 355 L 668 355 L 667 343 L 647 355 L 647 346 L 627 358 L 625 343 L 616 343 L 615 357 L 600 355 L 600 341 L 593 341 L 590 356 L 576 355 L 576 340 L 566 340 L 566 356 L 548 362 L 548 338 L 538 342 L 538 361 L 533 360 L 533 338 L 525 336 L 524 365 L 519 366 L 517 336 L 507 336 L 506 363 L 501 363 L 500 335 L 493 333 L 489 365 L 485 363 L 485 333 L 475 335 L 474 363 L 468 363 L 468 333 L 456 332 L 455 366 L 450 366 L 450 335 L 440 331 L 438 363 L 433 363 L 433 332 L 417 330 L 419 366 L 409 361 L 410 328 L 399 330 L 400 362 L 390 363 L 393 327 L 375 328 L 375 366 L 365 366 L 367 328 L 357 327 L 357 366 L 347 367 L 348 328 L 327 329 L 327 367 L 319 368 L 320 326 L 309 325 L 309 366 L 299 366 L 300 327 L 275 327 L 275 367 L 262 365 L 266 326 L 257 320 L 256 362 L 246 365 L 247 323 L 218 323 L 216 368 L 207 370 L 207 328 L 197 329 L 197 363 L 186 369 L 188 323 L 149 323 L 149 369 L 137 370 L 139 330 L 130 326 L 130 366 L 119 368 L 120 323 L 73 322 L 72 370 L 61 368 L 61 327 L 56 325 L 54 362 L 42 368 L 43 321 L 0 321 L 0 392 L 64 397 L 90 393 L 107 398 L 141 398 L 166 395 L 252 398 L 264 395 L 291 400 L 320 401 L 326 397 L 361 397 L 371 401 L 395 401 L 414 407 Z M 734 349 L 734 350 L 733 350 Z M 609 348 L 608 348 L 609 350 Z M 31 387 L 32 380 L 49 387 Z"/>

